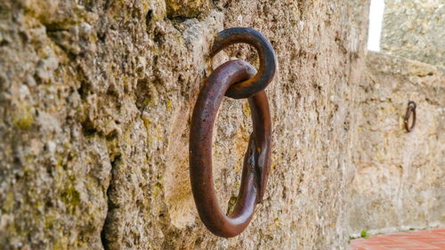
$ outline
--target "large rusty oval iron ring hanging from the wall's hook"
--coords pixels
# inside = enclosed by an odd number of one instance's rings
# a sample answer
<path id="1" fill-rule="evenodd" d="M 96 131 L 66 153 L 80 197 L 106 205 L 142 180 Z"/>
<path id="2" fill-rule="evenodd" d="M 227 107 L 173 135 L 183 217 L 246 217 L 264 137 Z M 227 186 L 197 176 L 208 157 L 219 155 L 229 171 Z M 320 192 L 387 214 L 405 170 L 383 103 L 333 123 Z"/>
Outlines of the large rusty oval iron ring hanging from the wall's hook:
<path id="1" fill-rule="evenodd" d="M 244 157 L 239 197 L 231 214 L 221 210 L 215 196 L 212 174 L 214 121 L 231 85 L 255 75 L 244 60 L 231 60 L 214 69 L 198 95 L 190 127 L 190 181 L 198 214 L 215 235 L 230 238 L 246 229 L 260 203 L 271 165 L 271 114 L 264 91 L 248 99 L 253 121 Z"/>

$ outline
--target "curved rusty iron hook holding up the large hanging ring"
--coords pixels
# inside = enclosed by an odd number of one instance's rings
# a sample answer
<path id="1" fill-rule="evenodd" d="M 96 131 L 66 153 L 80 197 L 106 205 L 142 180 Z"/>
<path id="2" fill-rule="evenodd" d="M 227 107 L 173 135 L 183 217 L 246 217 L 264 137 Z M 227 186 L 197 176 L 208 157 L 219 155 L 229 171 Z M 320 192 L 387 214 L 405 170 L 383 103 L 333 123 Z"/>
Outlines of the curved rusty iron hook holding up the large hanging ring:
<path id="1" fill-rule="evenodd" d="M 255 47 L 260 57 L 260 69 L 255 77 L 236 85 L 231 85 L 225 95 L 234 99 L 249 98 L 255 93 L 262 91 L 271 83 L 277 69 L 275 51 L 271 43 L 253 28 L 224 29 L 214 38 L 210 56 L 214 56 L 217 52 L 231 44 L 238 43 L 246 43 Z"/>

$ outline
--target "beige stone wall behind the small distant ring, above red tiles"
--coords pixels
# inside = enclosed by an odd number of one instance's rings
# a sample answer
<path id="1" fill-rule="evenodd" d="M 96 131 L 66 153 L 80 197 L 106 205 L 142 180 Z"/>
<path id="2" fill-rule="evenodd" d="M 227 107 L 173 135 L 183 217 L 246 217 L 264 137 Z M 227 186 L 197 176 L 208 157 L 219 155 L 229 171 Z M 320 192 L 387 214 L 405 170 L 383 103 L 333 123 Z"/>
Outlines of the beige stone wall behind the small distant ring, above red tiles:
<path id="1" fill-rule="evenodd" d="M 352 231 L 445 225 L 445 69 L 368 52 L 352 153 Z M 417 103 L 414 131 L 403 117 Z"/>

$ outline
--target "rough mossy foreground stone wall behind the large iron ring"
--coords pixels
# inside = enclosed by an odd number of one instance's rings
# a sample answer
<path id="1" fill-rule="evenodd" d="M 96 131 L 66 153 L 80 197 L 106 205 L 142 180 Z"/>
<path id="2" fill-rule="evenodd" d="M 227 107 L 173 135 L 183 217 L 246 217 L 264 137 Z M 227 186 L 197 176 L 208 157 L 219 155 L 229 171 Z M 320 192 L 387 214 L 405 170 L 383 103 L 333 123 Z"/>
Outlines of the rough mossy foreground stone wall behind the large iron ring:
<path id="1" fill-rule="evenodd" d="M 352 179 L 368 1 L 0 2 L 0 248 L 341 249 Z M 239 237 L 217 238 L 190 193 L 188 129 L 199 86 L 246 45 L 208 56 L 216 32 L 263 32 L 272 169 Z M 236 198 L 247 101 L 226 100 L 214 176 Z"/>

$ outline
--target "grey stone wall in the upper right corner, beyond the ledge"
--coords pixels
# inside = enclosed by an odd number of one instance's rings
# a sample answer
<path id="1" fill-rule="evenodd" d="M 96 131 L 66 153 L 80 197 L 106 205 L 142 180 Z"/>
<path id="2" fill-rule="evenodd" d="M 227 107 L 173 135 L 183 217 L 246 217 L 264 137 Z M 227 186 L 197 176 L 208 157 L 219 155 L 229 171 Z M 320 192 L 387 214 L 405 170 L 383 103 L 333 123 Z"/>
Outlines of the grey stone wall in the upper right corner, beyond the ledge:
<path id="1" fill-rule="evenodd" d="M 445 66 L 445 2 L 385 0 L 384 4 L 382 51 Z"/>

